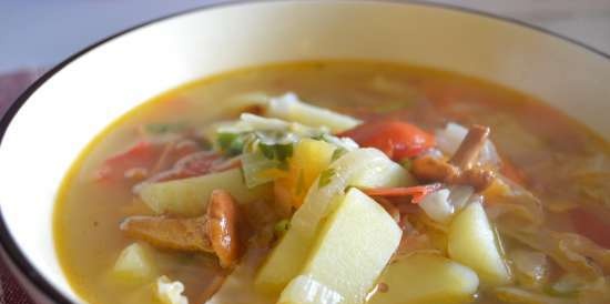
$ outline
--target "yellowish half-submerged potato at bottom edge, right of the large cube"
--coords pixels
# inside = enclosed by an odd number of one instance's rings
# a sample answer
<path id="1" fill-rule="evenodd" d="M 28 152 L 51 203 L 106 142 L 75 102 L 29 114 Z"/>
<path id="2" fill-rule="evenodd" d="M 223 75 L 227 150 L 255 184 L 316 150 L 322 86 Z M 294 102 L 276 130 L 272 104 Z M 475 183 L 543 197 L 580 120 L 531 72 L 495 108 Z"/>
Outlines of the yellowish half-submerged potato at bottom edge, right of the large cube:
<path id="1" fill-rule="evenodd" d="M 416 253 L 390 264 L 379 278 L 386 292 L 377 292 L 368 304 L 468 303 L 479 278 L 467 266 L 447 257 Z"/>

